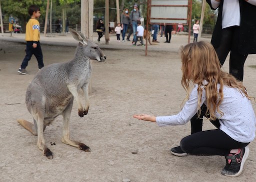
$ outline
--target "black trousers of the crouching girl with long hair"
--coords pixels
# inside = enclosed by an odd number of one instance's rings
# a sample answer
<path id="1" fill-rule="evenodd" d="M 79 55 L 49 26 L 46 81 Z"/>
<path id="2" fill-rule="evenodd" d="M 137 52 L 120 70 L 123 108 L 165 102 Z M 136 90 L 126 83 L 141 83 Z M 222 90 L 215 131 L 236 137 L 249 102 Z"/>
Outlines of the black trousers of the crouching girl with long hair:
<path id="1" fill-rule="evenodd" d="M 205 116 L 207 107 L 201 106 L 201 116 Z M 197 114 L 191 119 L 191 135 L 180 141 L 182 151 L 197 156 L 227 156 L 231 149 L 239 149 L 249 143 L 233 140 L 219 129 L 218 119 L 210 121 L 217 129 L 202 131 L 202 117 Z"/>

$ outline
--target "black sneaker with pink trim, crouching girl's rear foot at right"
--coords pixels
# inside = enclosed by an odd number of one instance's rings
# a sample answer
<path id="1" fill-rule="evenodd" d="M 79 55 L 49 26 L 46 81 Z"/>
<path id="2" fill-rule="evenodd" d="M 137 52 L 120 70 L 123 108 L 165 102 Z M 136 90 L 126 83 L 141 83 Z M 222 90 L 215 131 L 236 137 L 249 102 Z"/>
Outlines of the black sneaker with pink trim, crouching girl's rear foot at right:
<path id="1" fill-rule="evenodd" d="M 249 148 L 241 148 L 236 155 L 229 154 L 225 156 L 226 166 L 221 171 L 221 174 L 227 177 L 238 177 L 242 173 L 244 162 L 249 155 Z"/>

